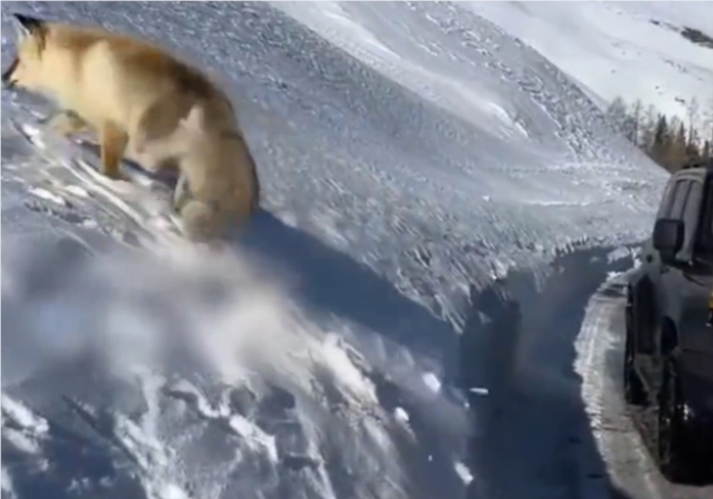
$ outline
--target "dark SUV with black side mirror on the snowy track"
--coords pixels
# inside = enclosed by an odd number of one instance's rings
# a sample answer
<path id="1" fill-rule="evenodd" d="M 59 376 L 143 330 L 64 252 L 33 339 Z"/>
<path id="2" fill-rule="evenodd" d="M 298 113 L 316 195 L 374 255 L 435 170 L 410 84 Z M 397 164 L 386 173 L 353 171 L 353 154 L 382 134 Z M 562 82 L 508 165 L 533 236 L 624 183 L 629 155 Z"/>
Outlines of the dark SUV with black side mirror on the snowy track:
<path id="1" fill-rule="evenodd" d="M 710 477 L 713 455 L 713 160 L 671 177 L 626 289 L 624 397 L 654 415 L 672 481 Z"/>

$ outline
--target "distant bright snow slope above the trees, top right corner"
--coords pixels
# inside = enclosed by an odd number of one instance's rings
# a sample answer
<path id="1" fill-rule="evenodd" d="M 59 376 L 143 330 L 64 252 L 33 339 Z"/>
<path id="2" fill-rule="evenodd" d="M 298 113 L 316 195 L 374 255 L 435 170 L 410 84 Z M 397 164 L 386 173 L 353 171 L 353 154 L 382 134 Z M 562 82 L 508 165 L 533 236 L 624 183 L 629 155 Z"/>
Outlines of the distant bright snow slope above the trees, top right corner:
<path id="1" fill-rule="evenodd" d="M 713 38 L 709 2 L 468 2 L 468 8 L 533 47 L 604 102 L 641 99 L 667 116 L 687 116 L 693 97 L 710 108 Z M 709 112 L 713 110 L 707 109 Z"/>

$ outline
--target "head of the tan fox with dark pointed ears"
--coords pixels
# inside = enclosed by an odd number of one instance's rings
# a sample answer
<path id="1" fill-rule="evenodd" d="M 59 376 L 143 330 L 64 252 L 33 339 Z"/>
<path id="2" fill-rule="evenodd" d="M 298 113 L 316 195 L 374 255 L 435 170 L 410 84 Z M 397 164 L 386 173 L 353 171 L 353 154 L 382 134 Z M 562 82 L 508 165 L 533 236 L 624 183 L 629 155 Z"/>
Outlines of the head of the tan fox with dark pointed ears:
<path id="1" fill-rule="evenodd" d="M 2 84 L 7 88 L 39 90 L 47 81 L 42 64 L 42 52 L 47 44 L 47 22 L 30 16 L 16 13 L 18 51 L 10 67 L 2 73 Z"/>

